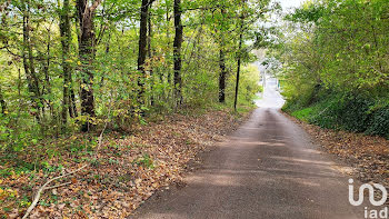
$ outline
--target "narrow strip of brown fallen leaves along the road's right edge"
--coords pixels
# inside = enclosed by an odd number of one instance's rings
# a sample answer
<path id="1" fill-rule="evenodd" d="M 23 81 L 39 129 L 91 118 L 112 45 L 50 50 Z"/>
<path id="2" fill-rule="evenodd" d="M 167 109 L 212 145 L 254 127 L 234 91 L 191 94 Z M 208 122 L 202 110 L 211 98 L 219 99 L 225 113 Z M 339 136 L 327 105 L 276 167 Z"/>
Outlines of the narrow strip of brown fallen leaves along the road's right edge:
<path id="1" fill-rule="evenodd" d="M 361 182 L 381 183 L 389 188 L 389 140 L 363 133 L 322 129 L 285 115 L 310 133 L 325 151 L 352 167 L 347 173 Z"/>

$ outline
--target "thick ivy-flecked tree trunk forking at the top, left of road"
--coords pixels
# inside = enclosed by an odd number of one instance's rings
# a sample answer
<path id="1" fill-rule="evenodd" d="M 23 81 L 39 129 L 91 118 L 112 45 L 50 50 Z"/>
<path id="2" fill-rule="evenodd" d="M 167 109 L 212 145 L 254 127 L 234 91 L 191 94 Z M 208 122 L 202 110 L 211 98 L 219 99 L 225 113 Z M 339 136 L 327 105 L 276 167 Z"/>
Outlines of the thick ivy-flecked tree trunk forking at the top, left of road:
<path id="1" fill-rule="evenodd" d="M 94 10 L 101 2 L 96 0 L 92 6 L 88 6 L 88 0 L 77 0 L 77 9 L 80 21 L 80 42 L 79 56 L 81 61 L 81 116 L 88 119 L 96 116 L 94 113 L 94 96 L 93 96 L 93 73 L 92 64 L 94 62 L 94 26 L 93 17 Z M 88 131 L 91 123 L 87 121 L 82 126 L 82 131 Z"/>

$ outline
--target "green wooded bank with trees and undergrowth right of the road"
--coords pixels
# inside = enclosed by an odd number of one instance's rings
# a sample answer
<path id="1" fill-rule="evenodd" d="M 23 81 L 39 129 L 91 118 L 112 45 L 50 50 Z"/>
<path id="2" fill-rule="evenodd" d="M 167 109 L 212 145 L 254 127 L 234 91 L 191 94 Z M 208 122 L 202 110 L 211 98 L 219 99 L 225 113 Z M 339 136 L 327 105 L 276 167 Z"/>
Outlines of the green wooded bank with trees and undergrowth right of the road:
<path id="1" fill-rule="evenodd" d="M 389 138 L 388 19 L 386 0 L 307 1 L 286 16 L 269 60 L 283 80 L 283 109 L 323 128 Z"/>

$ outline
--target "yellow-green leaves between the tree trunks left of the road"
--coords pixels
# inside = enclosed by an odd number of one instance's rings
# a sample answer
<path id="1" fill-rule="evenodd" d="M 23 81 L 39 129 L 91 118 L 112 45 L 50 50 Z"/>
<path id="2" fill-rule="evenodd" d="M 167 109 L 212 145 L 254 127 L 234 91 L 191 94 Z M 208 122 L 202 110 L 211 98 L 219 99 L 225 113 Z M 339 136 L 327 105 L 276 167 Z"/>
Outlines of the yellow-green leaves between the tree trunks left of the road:
<path id="1" fill-rule="evenodd" d="M 83 125 L 89 125 L 94 136 L 106 123 L 107 130 L 130 132 L 134 126 L 147 126 L 152 117 L 183 110 L 180 107 L 216 106 L 220 50 L 225 51 L 230 107 L 237 58 L 242 58 L 242 64 L 255 60 L 252 47 L 246 42 L 256 38 L 255 47 L 260 47 L 271 41 L 257 30 L 256 22 L 275 8 L 269 0 L 182 1 L 182 106 L 177 106 L 173 1 L 150 4 L 144 72 L 138 69 L 141 2 L 100 1 L 92 13 L 91 40 L 96 41 L 88 48 L 92 52 L 88 54 L 90 60 L 80 57 L 82 30 L 73 17 L 79 2 L 70 1 L 68 7 L 62 0 L 0 3 L 0 152 L 28 153 L 37 148 L 46 153 L 37 155 L 36 162 L 40 163 L 61 150 L 73 155 L 91 151 L 96 139 L 67 139 Z M 64 23 L 70 26 L 66 30 Z M 238 51 L 241 33 L 243 43 Z M 87 77 L 86 69 L 92 77 Z M 257 68 L 243 69 L 240 80 L 238 107 L 250 106 L 260 91 Z M 96 115 L 81 113 L 87 99 L 83 91 L 92 91 L 90 106 Z"/>

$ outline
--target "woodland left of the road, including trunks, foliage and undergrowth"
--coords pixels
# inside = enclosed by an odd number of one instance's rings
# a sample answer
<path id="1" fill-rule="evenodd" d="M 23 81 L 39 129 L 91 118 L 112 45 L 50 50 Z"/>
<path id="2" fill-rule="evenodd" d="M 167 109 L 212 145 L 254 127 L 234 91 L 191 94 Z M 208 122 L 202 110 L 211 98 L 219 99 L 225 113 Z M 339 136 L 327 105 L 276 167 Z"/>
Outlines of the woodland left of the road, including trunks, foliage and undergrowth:
<path id="1" fill-rule="evenodd" d="M 258 21 L 277 8 L 269 0 L 1 0 L 0 213 L 26 213 L 37 205 L 33 188 L 63 169 L 99 166 L 106 136 L 116 146 L 117 136 L 174 113 L 221 109 L 230 118 L 251 109 L 261 89 L 251 51 L 268 41 Z M 151 166 L 139 153 L 131 163 Z M 13 193 L 27 176 L 29 188 Z"/>

